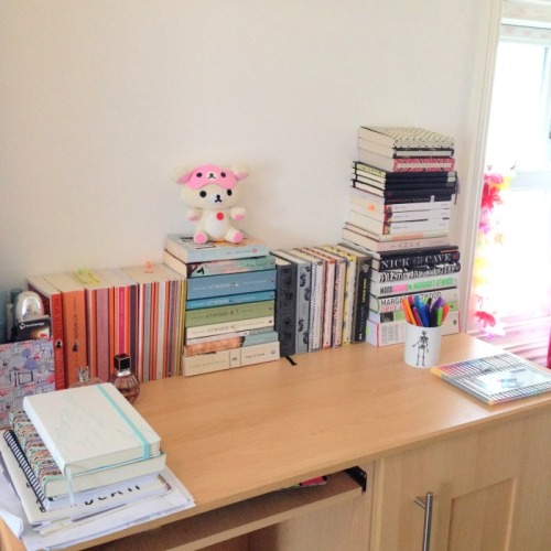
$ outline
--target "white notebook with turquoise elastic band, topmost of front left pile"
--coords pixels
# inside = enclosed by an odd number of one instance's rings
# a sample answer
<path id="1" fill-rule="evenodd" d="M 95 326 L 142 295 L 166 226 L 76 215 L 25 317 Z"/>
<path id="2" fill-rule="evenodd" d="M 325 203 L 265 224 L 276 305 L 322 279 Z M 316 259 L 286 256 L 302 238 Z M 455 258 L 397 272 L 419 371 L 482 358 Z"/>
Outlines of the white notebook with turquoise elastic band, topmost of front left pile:
<path id="1" fill-rule="evenodd" d="M 109 382 L 28 396 L 23 409 L 66 476 L 161 453 L 160 436 Z"/>

